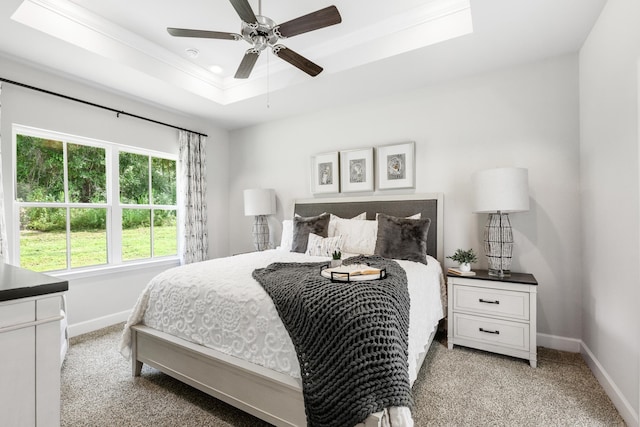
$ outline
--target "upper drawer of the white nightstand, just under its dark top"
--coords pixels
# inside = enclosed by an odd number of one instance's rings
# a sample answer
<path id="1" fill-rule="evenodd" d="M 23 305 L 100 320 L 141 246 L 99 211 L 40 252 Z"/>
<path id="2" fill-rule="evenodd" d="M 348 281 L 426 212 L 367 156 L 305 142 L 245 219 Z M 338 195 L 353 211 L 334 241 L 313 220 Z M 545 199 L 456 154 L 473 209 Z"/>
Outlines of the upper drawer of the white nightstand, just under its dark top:
<path id="1" fill-rule="evenodd" d="M 529 320 L 529 293 L 456 285 L 453 309 Z"/>

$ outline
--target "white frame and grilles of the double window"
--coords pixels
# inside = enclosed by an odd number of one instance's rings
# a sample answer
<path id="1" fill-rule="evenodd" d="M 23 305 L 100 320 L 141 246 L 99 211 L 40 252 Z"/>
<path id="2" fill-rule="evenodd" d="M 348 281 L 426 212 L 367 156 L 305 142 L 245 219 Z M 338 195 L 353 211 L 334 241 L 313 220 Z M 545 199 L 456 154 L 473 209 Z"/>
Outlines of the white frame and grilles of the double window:
<path id="1" fill-rule="evenodd" d="M 107 202 L 106 203 L 70 203 L 68 200 L 68 177 L 67 168 L 65 167 L 64 173 L 64 189 L 65 189 L 65 201 L 64 202 L 18 202 L 17 200 L 17 135 L 28 135 L 37 138 L 46 138 L 63 143 L 81 144 L 92 147 L 99 147 L 105 150 L 105 167 L 106 167 L 106 179 L 107 179 Z M 67 267 L 64 270 L 52 270 L 47 271 L 47 274 L 54 276 L 67 276 L 73 275 L 74 277 L 83 277 L 92 275 L 94 273 L 102 274 L 105 270 L 112 270 L 113 268 L 126 267 L 140 268 L 144 266 L 156 265 L 159 263 L 168 263 L 168 265 L 175 265 L 179 261 L 179 254 L 169 256 L 154 256 L 153 254 L 153 212 L 154 210 L 175 210 L 176 220 L 181 218 L 181 212 L 178 205 L 179 200 L 176 200 L 176 205 L 154 205 L 152 200 L 149 200 L 149 204 L 134 205 L 134 204 L 121 204 L 120 203 L 120 165 L 119 156 L 120 152 L 140 154 L 151 158 L 161 158 L 172 160 L 176 162 L 176 192 L 179 188 L 179 171 L 178 171 L 178 156 L 175 154 L 160 152 L 156 150 L 150 150 L 140 147 L 133 147 L 124 144 L 118 144 L 114 142 L 102 141 L 94 138 L 87 138 L 77 135 L 71 135 L 62 132 L 44 130 L 34 128 L 30 126 L 24 126 L 19 124 L 13 124 L 12 126 L 13 137 L 13 170 L 12 170 L 12 204 L 13 204 L 13 233 L 14 239 L 11 245 L 10 253 L 12 259 L 16 260 L 16 264 L 20 263 L 20 209 L 23 207 L 46 207 L 46 208 L 106 208 L 107 209 L 107 262 L 106 264 L 99 264 L 86 267 L 72 268 L 68 265 L 70 259 L 71 245 L 69 244 L 70 235 L 70 222 L 67 218 Z M 64 145 L 64 162 L 67 162 L 67 150 L 66 144 Z M 149 165 L 151 167 L 151 164 Z M 149 169 L 151 170 L 151 169 Z M 151 174 L 149 174 L 149 189 L 151 190 Z M 179 198 L 178 198 L 179 199 Z M 122 260 L 122 210 L 127 208 L 135 209 L 148 209 L 151 212 L 151 257 L 136 259 L 131 261 Z M 180 227 L 176 224 L 176 240 L 179 234 Z M 179 251 L 179 242 L 176 241 L 176 248 Z"/>

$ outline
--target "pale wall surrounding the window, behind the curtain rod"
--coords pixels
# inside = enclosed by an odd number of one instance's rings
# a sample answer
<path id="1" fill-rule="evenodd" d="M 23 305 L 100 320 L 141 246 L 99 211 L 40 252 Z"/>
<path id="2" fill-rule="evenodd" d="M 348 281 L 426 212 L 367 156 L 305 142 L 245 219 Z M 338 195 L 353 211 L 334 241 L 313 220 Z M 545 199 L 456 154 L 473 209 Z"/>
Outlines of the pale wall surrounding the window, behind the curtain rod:
<path id="1" fill-rule="evenodd" d="M 102 104 L 132 114 L 149 117 L 209 135 L 207 156 L 209 178 L 209 255 L 228 253 L 228 133 L 196 120 L 140 102 L 60 78 L 0 57 L 3 78 L 59 92 L 75 98 Z M 9 242 L 16 239 L 11 200 L 12 189 L 12 131 L 13 123 L 96 138 L 105 141 L 139 146 L 177 154 L 178 132 L 139 119 L 35 92 L 4 83 L 2 87 L 2 185 L 5 194 Z M 122 320 L 133 307 L 148 280 L 166 265 L 128 270 L 119 273 L 72 279 L 69 283 L 68 311 L 72 333 L 86 332 Z"/>

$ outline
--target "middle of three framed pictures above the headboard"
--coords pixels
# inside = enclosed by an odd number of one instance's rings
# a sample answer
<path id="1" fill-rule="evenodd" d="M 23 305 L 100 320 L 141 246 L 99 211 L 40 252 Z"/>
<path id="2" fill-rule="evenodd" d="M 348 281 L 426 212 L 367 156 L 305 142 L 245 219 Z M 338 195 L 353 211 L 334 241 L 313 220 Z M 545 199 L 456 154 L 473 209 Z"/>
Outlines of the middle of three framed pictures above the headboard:
<path id="1" fill-rule="evenodd" d="M 343 193 L 373 191 L 373 147 L 340 152 L 340 187 Z"/>

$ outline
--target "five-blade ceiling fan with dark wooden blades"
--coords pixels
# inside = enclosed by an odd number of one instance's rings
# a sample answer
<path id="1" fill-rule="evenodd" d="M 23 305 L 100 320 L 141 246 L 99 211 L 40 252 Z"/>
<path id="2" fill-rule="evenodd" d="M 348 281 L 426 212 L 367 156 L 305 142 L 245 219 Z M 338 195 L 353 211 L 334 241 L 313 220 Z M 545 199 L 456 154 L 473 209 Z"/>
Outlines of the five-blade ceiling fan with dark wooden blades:
<path id="1" fill-rule="evenodd" d="M 167 28 L 167 31 L 175 37 L 246 40 L 252 47 L 245 52 L 242 62 L 240 62 L 240 66 L 234 76 L 236 79 L 246 79 L 249 77 L 260 53 L 267 47 L 271 47 L 272 52 L 278 58 L 284 59 L 289 64 L 299 68 L 312 77 L 322 72 L 322 67 L 319 65 L 286 46 L 277 43 L 280 39 L 286 39 L 297 36 L 298 34 L 339 24 L 342 22 L 342 17 L 335 6 L 329 6 L 309 13 L 308 15 L 292 19 L 284 24 L 276 25 L 272 19 L 262 16 L 262 1 L 260 1 L 258 15 L 253 13 L 253 9 L 251 9 L 248 0 L 229 1 L 242 20 L 241 34 L 171 27 Z"/>

